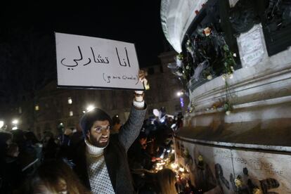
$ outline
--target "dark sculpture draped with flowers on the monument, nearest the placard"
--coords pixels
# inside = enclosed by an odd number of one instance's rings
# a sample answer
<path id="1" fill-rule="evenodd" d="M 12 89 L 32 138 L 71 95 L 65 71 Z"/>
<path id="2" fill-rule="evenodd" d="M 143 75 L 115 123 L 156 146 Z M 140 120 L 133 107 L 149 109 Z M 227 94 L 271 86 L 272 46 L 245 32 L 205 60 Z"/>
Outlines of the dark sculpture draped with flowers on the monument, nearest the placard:
<path id="1" fill-rule="evenodd" d="M 186 82 L 212 80 L 222 75 L 223 79 L 233 77 L 236 53 L 230 51 L 224 34 L 216 32 L 212 25 L 197 29 L 185 43 L 186 48 L 176 56 L 175 75 L 181 75 Z"/>

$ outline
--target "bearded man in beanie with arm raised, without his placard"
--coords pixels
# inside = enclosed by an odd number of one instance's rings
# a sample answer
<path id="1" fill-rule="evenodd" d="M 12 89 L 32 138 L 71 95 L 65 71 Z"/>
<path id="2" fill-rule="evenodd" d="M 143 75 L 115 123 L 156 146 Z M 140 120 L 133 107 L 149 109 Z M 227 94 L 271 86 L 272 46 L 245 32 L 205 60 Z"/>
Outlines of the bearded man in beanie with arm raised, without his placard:
<path id="1" fill-rule="evenodd" d="M 142 71 L 138 77 L 146 84 Z M 93 193 L 134 193 L 127 150 L 141 130 L 145 110 L 143 91 L 135 91 L 129 119 L 118 134 L 110 135 L 111 117 L 100 108 L 86 112 L 80 120 L 85 139 L 73 157 L 74 169 Z"/>

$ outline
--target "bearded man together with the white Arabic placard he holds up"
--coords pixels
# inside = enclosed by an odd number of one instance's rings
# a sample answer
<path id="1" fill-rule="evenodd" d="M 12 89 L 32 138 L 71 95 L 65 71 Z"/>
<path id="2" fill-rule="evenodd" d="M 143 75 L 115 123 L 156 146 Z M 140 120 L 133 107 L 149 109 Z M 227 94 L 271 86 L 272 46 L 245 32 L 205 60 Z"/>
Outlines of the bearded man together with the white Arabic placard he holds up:
<path id="1" fill-rule="evenodd" d="M 110 116 L 99 108 L 80 121 L 84 142 L 74 150 L 75 172 L 93 193 L 134 193 L 127 150 L 145 117 L 143 90 L 134 44 L 56 32 L 58 86 L 65 88 L 132 89 L 134 101 L 119 134 L 111 134 Z"/>

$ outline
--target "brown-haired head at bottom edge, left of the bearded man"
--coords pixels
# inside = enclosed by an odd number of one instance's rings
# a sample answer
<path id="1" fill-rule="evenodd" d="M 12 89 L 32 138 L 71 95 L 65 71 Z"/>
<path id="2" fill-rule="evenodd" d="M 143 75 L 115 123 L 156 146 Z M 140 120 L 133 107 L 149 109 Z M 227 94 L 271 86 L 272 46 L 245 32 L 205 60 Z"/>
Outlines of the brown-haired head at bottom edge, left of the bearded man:
<path id="1" fill-rule="evenodd" d="M 76 174 L 62 160 L 46 161 L 27 182 L 23 193 L 91 193 L 79 181 Z"/>

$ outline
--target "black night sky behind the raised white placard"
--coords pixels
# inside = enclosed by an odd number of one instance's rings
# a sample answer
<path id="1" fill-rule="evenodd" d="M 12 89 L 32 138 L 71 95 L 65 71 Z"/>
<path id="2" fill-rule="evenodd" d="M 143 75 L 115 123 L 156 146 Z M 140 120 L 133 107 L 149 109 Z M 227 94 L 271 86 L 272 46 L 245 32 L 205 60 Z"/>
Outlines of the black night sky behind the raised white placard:
<path id="1" fill-rule="evenodd" d="M 157 55 L 167 42 L 160 1 L 62 2 L 1 5 L 0 98 L 34 91 L 56 79 L 53 32 L 128 41 L 136 44 L 140 67 L 159 63 Z"/>

